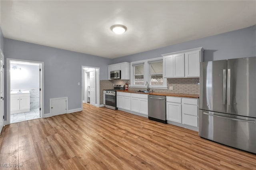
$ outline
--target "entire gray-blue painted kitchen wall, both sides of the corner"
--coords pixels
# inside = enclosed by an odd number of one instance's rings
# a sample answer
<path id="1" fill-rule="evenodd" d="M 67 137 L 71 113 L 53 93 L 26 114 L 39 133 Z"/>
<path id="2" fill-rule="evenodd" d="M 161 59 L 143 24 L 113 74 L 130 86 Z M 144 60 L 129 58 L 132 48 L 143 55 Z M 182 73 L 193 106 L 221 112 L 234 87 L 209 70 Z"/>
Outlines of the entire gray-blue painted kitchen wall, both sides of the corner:
<path id="1" fill-rule="evenodd" d="M 68 109 L 81 107 L 82 91 L 81 86 L 77 85 L 78 82 L 82 83 L 81 65 L 100 67 L 100 80 L 106 80 L 108 64 L 160 57 L 164 53 L 196 47 L 204 47 L 204 61 L 252 57 L 256 56 L 256 26 L 116 59 L 6 39 L 2 38 L 1 32 L 1 48 L 2 45 L 5 58 L 44 61 L 44 113 L 50 113 L 49 99 L 56 97 L 68 97 Z"/>

